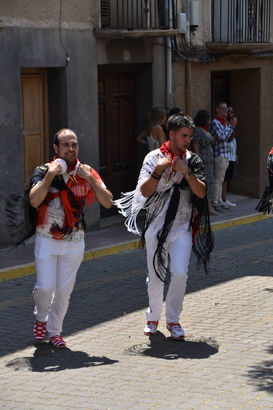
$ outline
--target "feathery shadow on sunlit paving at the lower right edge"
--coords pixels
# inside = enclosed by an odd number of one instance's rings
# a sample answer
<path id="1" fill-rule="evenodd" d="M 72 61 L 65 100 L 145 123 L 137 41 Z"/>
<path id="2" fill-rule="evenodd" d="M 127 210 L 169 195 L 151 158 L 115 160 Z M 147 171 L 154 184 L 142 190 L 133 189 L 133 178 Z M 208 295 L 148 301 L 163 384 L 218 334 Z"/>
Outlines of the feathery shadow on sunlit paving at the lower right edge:
<path id="1" fill-rule="evenodd" d="M 273 346 L 266 349 L 266 353 L 273 353 Z M 248 377 L 251 385 L 255 385 L 256 389 L 266 391 L 273 394 L 273 360 L 264 360 L 250 367 Z"/>

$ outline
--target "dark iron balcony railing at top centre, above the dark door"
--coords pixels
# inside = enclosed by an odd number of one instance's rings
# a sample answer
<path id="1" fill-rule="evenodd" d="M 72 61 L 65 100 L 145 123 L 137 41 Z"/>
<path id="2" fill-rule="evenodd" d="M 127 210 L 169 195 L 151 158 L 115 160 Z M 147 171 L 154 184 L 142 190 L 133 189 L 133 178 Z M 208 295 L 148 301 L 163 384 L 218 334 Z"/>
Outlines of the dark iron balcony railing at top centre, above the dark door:
<path id="1" fill-rule="evenodd" d="M 176 28 L 177 0 L 101 0 L 101 27 L 112 30 Z"/>

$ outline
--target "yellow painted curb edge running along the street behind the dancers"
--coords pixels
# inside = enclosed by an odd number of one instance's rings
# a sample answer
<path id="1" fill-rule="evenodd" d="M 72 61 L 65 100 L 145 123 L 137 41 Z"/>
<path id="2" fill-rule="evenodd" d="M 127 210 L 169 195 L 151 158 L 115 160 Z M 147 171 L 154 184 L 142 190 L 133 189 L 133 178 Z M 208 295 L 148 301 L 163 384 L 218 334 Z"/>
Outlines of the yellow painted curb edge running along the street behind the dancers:
<path id="1" fill-rule="evenodd" d="M 211 228 L 213 231 L 226 228 L 233 228 L 235 226 L 245 225 L 246 223 L 262 221 L 263 219 L 267 218 L 269 218 L 269 216 L 261 214 L 240 216 L 239 218 L 235 218 L 232 220 L 213 222 L 211 223 Z M 138 249 L 138 243 L 139 240 L 126 241 L 120 242 L 119 244 L 116 244 L 114 246 L 109 246 L 108 248 L 101 247 L 95 248 L 93 250 L 87 250 L 84 252 L 83 262 L 86 260 L 97 259 L 102 256 L 114 255 L 115 253 L 119 253 L 127 249 Z M 34 273 L 36 273 L 34 262 L 0 269 L 0 282 L 2 280 L 19 278 L 20 276 L 33 275 Z"/>

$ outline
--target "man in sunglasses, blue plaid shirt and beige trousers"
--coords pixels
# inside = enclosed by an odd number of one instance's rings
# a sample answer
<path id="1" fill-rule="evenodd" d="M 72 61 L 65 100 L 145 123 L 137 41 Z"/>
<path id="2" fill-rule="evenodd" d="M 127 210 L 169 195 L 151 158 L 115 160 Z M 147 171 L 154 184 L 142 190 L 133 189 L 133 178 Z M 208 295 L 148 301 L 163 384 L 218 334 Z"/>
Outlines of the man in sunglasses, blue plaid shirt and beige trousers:
<path id="1" fill-rule="evenodd" d="M 226 169 L 228 168 L 228 139 L 234 133 L 234 127 L 237 124 L 237 118 L 232 118 L 227 125 L 228 106 L 224 101 L 217 101 L 216 115 L 210 123 L 210 132 L 214 137 L 212 144 L 214 159 L 214 200 L 212 207 L 217 212 L 231 211 L 222 200 L 222 184 L 225 178 Z"/>

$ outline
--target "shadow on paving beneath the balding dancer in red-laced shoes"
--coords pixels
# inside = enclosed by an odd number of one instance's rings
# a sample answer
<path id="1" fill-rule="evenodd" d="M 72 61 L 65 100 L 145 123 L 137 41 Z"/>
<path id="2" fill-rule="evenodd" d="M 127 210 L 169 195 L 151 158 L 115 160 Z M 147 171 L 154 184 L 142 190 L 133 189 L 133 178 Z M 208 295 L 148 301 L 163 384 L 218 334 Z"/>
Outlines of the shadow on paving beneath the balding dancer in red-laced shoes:
<path id="1" fill-rule="evenodd" d="M 103 366 L 118 362 L 118 360 L 111 360 L 106 357 L 89 356 L 81 351 L 72 351 L 68 347 L 54 348 L 50 343 L 40 343 L 36 346 L 32 358 L 24 357 L 11 360 L 6 364 L 6 367 L 11 367 L 15 371 L 52 372 Z"/>

